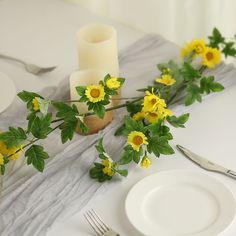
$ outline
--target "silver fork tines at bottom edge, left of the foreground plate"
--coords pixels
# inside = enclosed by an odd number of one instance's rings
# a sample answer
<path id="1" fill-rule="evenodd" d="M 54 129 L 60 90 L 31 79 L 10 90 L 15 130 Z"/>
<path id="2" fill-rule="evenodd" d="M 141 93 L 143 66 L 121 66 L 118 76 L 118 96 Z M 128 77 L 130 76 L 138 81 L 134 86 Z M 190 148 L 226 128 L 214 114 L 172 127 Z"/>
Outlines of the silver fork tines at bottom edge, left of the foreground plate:
<path id="1" fill-rule="evenodd" d="M 105 224 L 102 218 L 93 209 L 87 211 L 84 217 L 98 236 L 120 236 Z"/>

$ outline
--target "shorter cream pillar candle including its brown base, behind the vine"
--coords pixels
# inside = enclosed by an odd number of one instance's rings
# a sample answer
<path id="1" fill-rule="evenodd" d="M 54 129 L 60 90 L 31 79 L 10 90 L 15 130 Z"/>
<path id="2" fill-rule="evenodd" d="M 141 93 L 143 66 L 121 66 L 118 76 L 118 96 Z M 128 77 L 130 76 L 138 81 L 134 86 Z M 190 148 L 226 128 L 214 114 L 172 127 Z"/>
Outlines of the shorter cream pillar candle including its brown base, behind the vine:
<path id="1" fill-rule="evenodd" d="M 79 70 L 71 74 L 70 76 L 70 97 L 71 100 L 79 100 L 80 96 L 76 91 L 77 86 L 87 86 L 91 84 L 98 84 L 100 80 L 103 80 L 107 72 L 100 69 L 87 69 Z M 73 102 L 79 110 L 80 114 L 85 114 L 88 111 L 87 105 L 80 102 Z M 107 105 L 107 108 L 110 104 Z M 105 113 L 103 119 L 97 117 L 96 115 L 90 115 L 84 118 L 84 123 L 88 126 L 89 132 L 87 134 L 97 133 L 99 130 L 104 129 L 113 120 L 113 112 L 109 111 Z M 80 121 L 78 121 L 76 131 L 82 134 L 80 130 Z"/>

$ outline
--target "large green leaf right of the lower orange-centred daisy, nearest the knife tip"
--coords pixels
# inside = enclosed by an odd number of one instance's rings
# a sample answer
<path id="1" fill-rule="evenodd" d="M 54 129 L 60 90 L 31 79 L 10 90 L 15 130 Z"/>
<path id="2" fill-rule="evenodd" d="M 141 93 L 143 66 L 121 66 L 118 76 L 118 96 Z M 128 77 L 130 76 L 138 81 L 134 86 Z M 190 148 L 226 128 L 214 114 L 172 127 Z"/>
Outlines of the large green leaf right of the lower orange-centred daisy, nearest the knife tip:
<path id="1" fill-rule="evenodd" d="M 160 154 L 171 155 L 174 153 L 173 148 L 168 143 L 167 137 L 153 136 L 148 140 L 148 143 L 148 152 L 153 152 L 157 157 Z"/>

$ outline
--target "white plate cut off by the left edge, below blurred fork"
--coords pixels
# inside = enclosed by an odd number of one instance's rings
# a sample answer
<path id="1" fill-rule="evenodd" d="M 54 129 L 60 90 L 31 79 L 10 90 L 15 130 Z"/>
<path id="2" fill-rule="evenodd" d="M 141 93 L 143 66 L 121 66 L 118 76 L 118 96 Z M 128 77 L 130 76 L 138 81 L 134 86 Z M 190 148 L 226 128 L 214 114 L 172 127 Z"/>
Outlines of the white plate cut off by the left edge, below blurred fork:
<path id="1" fill-rule="evenodd" d="M 15 96 L 15 84 L 7 75 L 0 72 L 0 113 L 12 104 Z"/>

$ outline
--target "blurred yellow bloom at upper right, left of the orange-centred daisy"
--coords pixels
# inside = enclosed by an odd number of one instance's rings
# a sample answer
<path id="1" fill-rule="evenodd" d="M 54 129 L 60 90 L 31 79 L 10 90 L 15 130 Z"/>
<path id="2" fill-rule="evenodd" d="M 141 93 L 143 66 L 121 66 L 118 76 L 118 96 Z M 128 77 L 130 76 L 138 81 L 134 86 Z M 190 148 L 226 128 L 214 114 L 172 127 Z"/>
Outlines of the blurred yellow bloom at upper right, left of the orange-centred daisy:
<path id="1" fill-rule="evenodd" d="M 204 39 L 195 39 L 190 43 L 186 44 L 186 47 L 181 49 L 181 56 L 184 58 L 188 56 L 191 52 L 195 52 L 200 55 L 203 54 L 206 50 L 206 43 Z"/>

